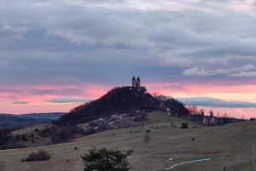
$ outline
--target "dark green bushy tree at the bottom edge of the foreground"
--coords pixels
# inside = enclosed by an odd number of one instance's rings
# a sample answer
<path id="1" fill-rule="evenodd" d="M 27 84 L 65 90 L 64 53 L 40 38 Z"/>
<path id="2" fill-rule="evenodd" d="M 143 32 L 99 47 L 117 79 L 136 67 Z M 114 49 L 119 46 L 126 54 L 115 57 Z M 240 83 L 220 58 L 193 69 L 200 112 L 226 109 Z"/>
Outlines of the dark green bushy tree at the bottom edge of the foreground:
<path id="1" fill-rule="evenodd" d="M 107 148 L 96 149 L 93 146 L 89 154 L 81 156 L 85 166 L 84 171 L 128 171 L 131 168 L 128 157 L 132 152 L 133 150 L 123 153 Z"/>

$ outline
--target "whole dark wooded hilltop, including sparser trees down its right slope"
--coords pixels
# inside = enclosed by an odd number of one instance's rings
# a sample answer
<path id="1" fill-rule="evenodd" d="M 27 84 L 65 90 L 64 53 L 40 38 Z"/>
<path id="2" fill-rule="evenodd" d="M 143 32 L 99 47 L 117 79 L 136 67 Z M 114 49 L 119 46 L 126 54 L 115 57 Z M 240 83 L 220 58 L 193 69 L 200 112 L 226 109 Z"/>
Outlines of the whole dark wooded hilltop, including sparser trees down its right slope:
<path id="1" fill-rule="evenodd" d="M 172 115 L 188 117 L 189 112 L 182 102 L 160 94 L 148 94 L 143 88 L 117 87 L 100 99 L 79 105 L 53 123 L 85 123 L 119 112 L 135 110 L 171 109 Z"/>

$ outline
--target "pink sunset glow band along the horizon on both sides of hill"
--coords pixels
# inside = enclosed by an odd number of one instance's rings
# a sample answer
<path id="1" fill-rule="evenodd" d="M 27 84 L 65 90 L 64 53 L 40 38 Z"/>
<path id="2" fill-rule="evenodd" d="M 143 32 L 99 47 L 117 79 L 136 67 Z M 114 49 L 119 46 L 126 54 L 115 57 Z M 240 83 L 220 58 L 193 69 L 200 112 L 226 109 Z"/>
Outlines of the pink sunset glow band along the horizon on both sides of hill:
<path id="1" fill-rule="evenodd" d="M 251 82 L 251 81 L 248 81 Z M 159 92 L 164 95 L 178 97 L 209 96 L 223 100 L 243 100 L 255 102 L 253 93 L 256 94 L 256 85 L 245 82 L 240 83 L 142 83 L 149 93 Z M 0 113 L 29 113 L 29 112 L 50 112 L 69 111 L 79 105 L 76 103 L 55 104 L 44 100 L 53 100 L 61 97 L 97 99 L 114 85 L 98 85 L 81 83 L 77 85 L 20 85 L 3 87 L 0 91 Z M 248 94 L 252 94 L 249 96 Z M 26 101 L 28 104 L 13 104 L 14 102 Z M 208 109 L 207 107 L 203 107 Z M 210 108 L 209 108 L 210 109 Z M 217 108 L 212 108 L 216 111 Z M 253 108 L 247 109 L 219 109 L 234 117 L 253 117 Z M 232 115 L 232 116 L 233 116 Z"/>

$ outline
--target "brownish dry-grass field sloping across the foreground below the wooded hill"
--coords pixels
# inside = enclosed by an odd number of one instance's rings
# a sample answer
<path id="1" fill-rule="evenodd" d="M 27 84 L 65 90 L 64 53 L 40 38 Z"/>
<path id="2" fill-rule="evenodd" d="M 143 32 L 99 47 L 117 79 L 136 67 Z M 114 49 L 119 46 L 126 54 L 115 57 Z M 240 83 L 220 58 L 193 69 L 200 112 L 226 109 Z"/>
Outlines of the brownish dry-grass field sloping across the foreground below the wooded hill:
<path id="1" fill-rule="evenodd" d="M 241 126 L 244 123 L 205 127 L 199 123 L 169 117 L 164 112 L 150 113 L 149 118 L 151 124 L 145 124 L 144 128 L 113 129 L 85 136 L 71 143 L 0 151 L 0 171 L 81 171 L 84 166 L 80 155 L 86 153 L 93 145 L 118 148 L 122 151 L 134 149 L 134 153 L 129 157 L 131 171 L 156 171 L 169 168 L 178 162 L 209 157 L 212 158 L 209 161 L 185 163 L 170 170 L 213 170 L 229 165 L 230 157 L 237 156 L 241 152 L 238 142 Z M 189 123 L 189 128 L 171 128 L 171 123 L 177 124 L 178 127 L 181 123 Z M 194 126 L 196 128 L 192 128 Z M 147 127 L 151 127 L 149 133 L 151 140 L 148 144 L 143 141 Z M 24 130 L 20 130 L 19 134 L 21 131 Z M 195 141 L 191 138 L 195 138 Z M 78 150 L 74 150 L 74 147 Z M 51 155 L 49 161 L 20 162 L 22 157 L 27 157 L 31 151 L 39 149 L 49 151 Z M 171 157 L 173 160 L 169 161 Z"/>

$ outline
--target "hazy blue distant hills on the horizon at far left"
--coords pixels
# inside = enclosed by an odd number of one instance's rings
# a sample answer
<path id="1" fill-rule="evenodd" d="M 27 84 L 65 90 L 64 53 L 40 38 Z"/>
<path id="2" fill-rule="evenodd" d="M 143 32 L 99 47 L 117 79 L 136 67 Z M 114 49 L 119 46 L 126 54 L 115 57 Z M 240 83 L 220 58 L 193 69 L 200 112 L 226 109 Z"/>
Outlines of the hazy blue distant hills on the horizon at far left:
<path id="1" fill-rule="evenodd" d="M 64 112 L 29 113 L 22 115 L 0 114 L 0 128 L 28 127 L 41 123 L 50 123 L 65 115 Z"/>

